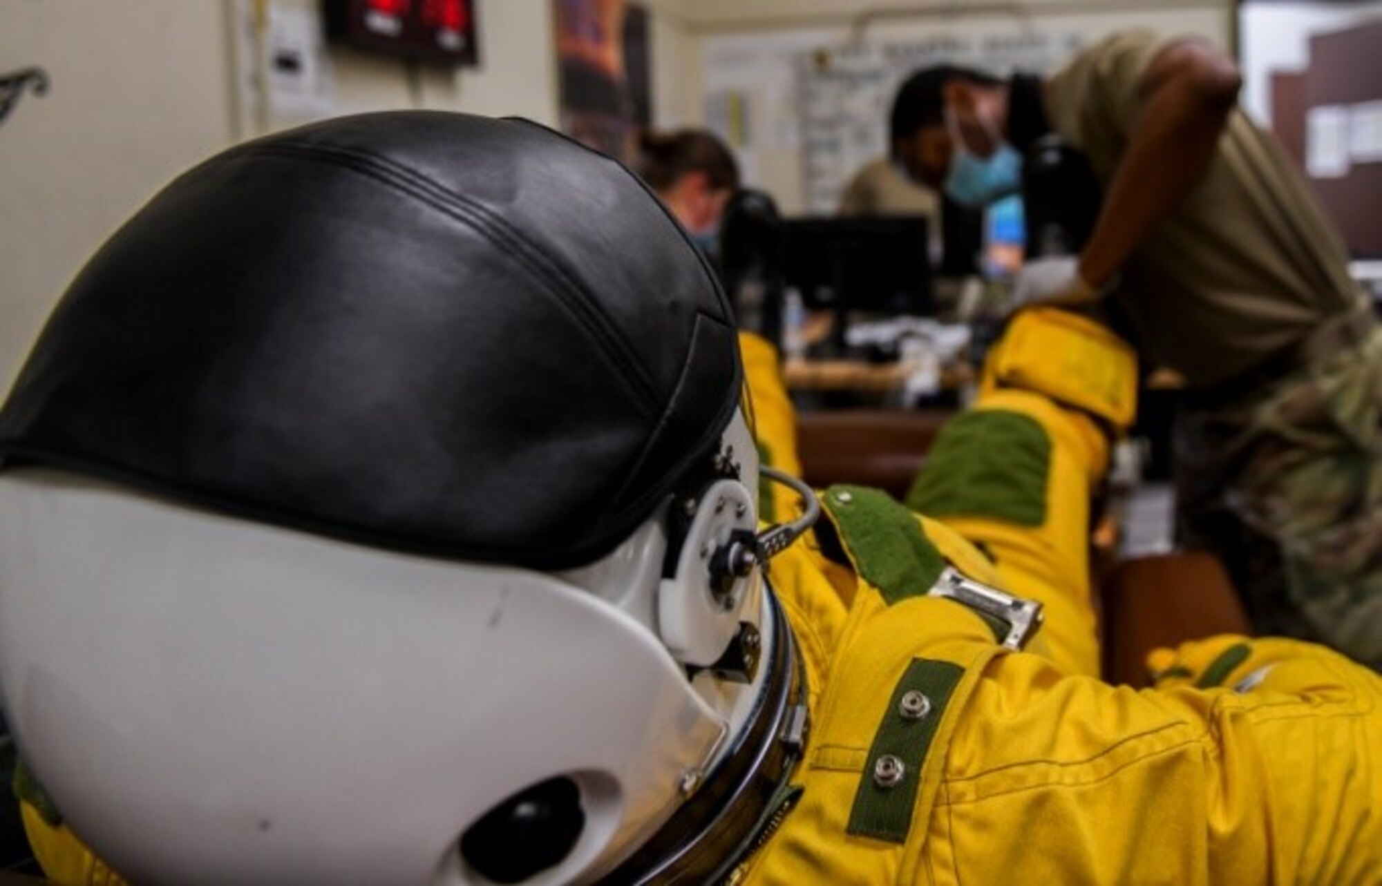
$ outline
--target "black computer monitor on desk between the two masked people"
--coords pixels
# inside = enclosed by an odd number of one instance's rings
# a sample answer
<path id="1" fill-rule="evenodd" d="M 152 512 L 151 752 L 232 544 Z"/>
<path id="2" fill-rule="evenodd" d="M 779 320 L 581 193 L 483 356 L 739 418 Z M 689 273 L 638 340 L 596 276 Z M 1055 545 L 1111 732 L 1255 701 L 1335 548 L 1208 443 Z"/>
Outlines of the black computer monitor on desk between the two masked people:
<path id="1" fill-rule="evenodd" d="M 795 218 L 784 228 L 786 284 L 807 306 L 934 313 L 925 215 Z"/>

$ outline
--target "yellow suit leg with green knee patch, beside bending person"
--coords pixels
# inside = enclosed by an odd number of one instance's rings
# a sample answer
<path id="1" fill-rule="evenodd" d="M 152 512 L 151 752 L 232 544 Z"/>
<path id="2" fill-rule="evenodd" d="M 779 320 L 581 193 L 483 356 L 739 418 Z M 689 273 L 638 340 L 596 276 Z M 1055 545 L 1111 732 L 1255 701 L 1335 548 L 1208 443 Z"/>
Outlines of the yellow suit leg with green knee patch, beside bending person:
<path id="1" fill-rule="evenodd" d="M 984 368 L 974 408 L 941 431 L 907 504 L 988 553 L 998 585 L 1042 603 L 1031 651 L 1099 675 L 1089 575 L 1090 501 L 1110 432 L 1132 421 L 1136 360 L 1096 323 L 1019 315 Z"/>

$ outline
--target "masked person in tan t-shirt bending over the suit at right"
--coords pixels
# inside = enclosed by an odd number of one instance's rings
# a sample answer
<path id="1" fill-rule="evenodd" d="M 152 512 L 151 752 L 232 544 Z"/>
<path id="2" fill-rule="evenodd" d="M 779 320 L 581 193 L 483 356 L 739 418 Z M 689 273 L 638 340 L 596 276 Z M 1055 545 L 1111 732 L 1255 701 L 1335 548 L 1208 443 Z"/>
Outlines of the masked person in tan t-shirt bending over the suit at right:
<path id="1" fill-rule="evenodd" d="M 1187 547 L 1215 551 L 1263 632 L 1382 667 L 1382 333 L 1302 174 L 1237 106 L 1233 61 L 1114 35 L 1041 79 L 920 70 L 893 109 L 908 174 L 960 201 L 1020 188 L 1057 134 L 1103 200 L 1078 255 L 1030 262 L 1019 304 L 1103 299 L 1190 388 L 1177 420 Z"/>

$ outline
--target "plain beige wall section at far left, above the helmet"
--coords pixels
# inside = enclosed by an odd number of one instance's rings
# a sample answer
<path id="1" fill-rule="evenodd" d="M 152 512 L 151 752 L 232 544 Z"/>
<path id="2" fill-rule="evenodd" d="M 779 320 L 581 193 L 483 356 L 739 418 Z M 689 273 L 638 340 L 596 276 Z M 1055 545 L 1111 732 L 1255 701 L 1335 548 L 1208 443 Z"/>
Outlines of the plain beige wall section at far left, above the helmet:
<path id="1" fill-rule="evenodd" d="M 229 141 L 218 3 L 0 4 L 0 70 L 41 65 L 0 126 L 0 389 L 54 298 L 169 175 Z"/>

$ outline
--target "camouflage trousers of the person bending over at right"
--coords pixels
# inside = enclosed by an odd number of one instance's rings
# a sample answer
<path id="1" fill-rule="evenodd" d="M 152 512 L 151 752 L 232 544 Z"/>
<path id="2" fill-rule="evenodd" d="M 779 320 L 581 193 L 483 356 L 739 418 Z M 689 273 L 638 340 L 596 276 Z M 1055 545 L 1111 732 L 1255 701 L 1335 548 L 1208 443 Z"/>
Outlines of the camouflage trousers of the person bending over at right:
<path id="1" fill-rule="evenodd" d="M 1263 632 L 1382 669 L 1382 330 L 1176 428 L 1183 540 Z"/>

